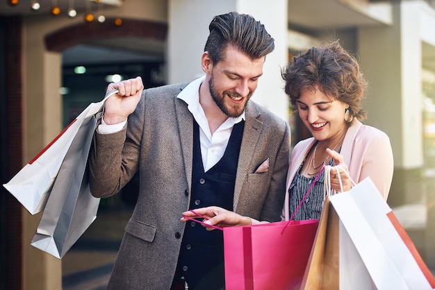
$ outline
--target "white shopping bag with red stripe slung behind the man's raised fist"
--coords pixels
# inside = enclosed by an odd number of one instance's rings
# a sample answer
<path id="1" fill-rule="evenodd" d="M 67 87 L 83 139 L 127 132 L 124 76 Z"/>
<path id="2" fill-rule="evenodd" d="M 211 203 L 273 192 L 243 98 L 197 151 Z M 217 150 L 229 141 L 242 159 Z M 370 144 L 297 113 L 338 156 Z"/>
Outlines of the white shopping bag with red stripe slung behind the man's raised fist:
<path id="1" fill-rule="evenodd" d="M 28 212 L 37 214 L 44 210 L 60 165 L 81 124 L 86 117 L 99 112 L 106 99 L 116 93 L 117 89 L 112 90 L 106 94 L 103 101 L 88 105 L 62 133 L 3 185 Z"/>

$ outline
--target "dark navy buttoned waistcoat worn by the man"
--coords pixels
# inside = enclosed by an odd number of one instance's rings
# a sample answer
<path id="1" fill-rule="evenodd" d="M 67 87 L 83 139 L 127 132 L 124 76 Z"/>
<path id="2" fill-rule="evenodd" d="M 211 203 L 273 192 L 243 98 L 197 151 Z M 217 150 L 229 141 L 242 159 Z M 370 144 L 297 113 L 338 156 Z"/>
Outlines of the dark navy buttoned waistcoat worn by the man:
<path id="1" fill-rule="evenodd" d="M 233 210 L 238 155 L 245 121 L 233 126 L 222 158 L 204 172 L 199 126 L 193 127 L 192 192 L 190 209 L 217 205 Z M 194 221 L 186 223 L 175 280 L 184 277 L 191 289 L 224 289 L 224 248 L 220 230 L 207 231 Z"/>

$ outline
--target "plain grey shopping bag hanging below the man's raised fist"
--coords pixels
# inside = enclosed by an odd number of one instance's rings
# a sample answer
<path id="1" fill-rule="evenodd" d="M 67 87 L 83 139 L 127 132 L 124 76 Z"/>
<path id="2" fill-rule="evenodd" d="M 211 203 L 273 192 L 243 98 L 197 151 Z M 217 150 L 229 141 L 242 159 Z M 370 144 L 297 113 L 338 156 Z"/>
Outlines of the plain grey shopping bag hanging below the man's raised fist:
<path id="1" fill-rule="evenodd" d="M 85 172 L 97 117 L 86 117 L 54 182 L 31 245 L 61 259 L 96 219 L 99 198 Z"/>

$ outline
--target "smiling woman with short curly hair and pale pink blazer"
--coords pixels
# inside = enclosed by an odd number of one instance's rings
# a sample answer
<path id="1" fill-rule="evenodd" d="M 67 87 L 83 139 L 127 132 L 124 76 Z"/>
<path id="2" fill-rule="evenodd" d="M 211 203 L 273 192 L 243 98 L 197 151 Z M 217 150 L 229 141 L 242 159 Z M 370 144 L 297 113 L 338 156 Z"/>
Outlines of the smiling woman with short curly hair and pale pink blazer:
<path id="1" fill-rule="evenodd" d="M 296 56 L 282 76 L 290 103 L 313 136 L 297 143 L 290 155 L 287 180 L 290 210 L 283 211 L 282 218 L 295 212 L 314 181 L 293 219 L 319 218 L 325 176 L 321 169 L 326 164 L 339 165 L 344 191 L 351 189 L 352 183 L 343 170 L 356 183 L 370 177 L 386 200 L 393 179 L 393 151 L 385 133 L 361 123 L 366 119 L 361 102 L 367 82 L 356 59 L 335 41 Z M 340 191 L 335 170 L 331 171 L 331 188 Z M 206 224 L 220 227 L 261 223 L 220 207 L 204 207 L 195 213 L 184 212 L 183 216 L 195 218 L 199 217 L 197 214 L 205 216 Z"/>

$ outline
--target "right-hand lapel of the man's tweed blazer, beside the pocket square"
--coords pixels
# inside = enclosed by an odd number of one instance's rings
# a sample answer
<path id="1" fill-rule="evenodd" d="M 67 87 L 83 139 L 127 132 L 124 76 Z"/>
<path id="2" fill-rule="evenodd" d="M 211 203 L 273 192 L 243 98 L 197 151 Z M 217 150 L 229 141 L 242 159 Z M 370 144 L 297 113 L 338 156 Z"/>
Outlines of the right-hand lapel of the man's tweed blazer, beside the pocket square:
<path id="1" fill-rule="evenodd" d="M 245 129 L 243 130 L 242 145 L 238 157 L 238 167 L 236 174 L 236 185 L 234 187 L 233 208 L 237 208 L 237 203 L 242 192 L 243 182 L 249 169 L 249 164 L 256 153 L 256 144 L 258 137 L 263 129 L 263 122 L 256 119 L 259 115 L 256 107 L 248 102 L 245 109 Z"/>

